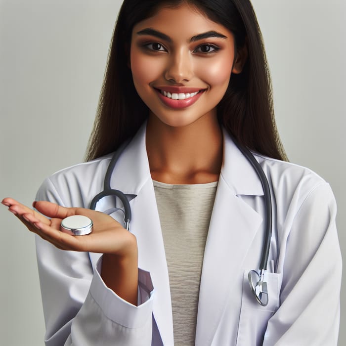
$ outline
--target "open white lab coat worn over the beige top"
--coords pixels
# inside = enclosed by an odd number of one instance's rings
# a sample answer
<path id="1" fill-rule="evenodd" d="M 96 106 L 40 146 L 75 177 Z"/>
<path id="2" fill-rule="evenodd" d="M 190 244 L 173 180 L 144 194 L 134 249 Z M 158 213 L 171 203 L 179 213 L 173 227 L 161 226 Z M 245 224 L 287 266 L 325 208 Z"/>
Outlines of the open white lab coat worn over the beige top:
<path id="1" fill-rule="evenodd" d="M 37 200 L 88 208 L 103 189 L 112 155 L 53 174 Z M 264 237 L 263 190 L 257 174 L 224 132 L 224 160 L 203 260 L 196 345 L 336 345 L 341 254 L 336 205 L 316 173 L 255 155 L 272 191 L 273 230 L 260 306 L 247 280 L 257 269 Z M 112 188 L 136 197 L 131 231 L 138 243 L 140 305 L 125 302 L 99 274 L 99 254 L 61 251 L 37 237 L 46 345 L 173 345 L 169 276 L 145 125 L 125 149 Z M 100 207 L 113 208 L 108 199 Z M 120 222 L 120 211 L 112 214 Z M 188 256 L 188 254 L 187 254 Z"/>

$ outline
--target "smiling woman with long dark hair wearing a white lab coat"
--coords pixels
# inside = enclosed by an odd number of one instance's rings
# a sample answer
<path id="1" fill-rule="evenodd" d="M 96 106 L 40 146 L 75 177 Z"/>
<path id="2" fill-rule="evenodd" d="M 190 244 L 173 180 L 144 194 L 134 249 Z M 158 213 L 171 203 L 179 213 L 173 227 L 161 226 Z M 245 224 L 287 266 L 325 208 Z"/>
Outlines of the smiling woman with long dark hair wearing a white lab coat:
<path id="1" fill-rule="evenodd" d="M 41 237 L 46 345 L 336 345 L 335 200 L 315 173 L 280 161 L 272 113 L 250 2 L 124 1 L 88 162 L 44 181 L 34 206 L 50 220 L 3 200 Z M 247 280 L 263 188 L 230 134 L 272 194 L 266 306 Z M 97 205 L 112 217 L 85 208 L 131 137 L 111 177 L 130 200 L 128 232 L 118 201 Z M 93 220 L 90 235 L 59 231 L 75 214 Z"/>

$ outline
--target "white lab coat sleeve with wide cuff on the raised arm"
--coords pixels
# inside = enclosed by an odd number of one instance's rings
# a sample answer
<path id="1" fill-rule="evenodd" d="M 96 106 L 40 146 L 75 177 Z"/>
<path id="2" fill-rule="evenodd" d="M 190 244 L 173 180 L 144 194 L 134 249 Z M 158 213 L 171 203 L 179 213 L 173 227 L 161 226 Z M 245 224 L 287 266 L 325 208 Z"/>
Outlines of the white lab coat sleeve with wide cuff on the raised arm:
<path id="1" fill-rule="evenodd" d="M 36 200 L 64 203 L 46 179 Z M 138 306 L 110 290 L 100 276 L 102 257 L 92 268 L 88 253 L 63 251 L 36 237 L 45 345 L 151 345 L 150 274 L 138 270 Z"/>

